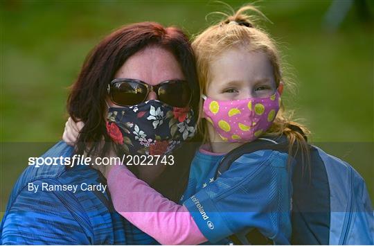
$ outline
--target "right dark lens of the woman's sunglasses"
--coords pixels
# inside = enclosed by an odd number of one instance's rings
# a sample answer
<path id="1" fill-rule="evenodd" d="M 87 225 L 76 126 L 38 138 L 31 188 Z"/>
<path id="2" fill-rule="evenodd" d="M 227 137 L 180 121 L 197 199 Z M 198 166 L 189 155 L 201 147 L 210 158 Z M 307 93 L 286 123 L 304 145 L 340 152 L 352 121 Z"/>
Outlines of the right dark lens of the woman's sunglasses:
<path id="1" fill-rule="evenodd" d="M 159 100 L 173 107 L 186 107 L 192 91 L 186 81 L 170 81 L 159 87 Z"/>

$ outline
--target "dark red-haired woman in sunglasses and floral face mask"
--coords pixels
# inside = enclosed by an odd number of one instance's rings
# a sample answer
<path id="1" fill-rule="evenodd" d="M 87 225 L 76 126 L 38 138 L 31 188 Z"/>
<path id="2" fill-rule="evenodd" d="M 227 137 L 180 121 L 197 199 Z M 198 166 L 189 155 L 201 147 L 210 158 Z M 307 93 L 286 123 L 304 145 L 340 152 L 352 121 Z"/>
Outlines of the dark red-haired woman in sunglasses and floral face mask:
<path id="1" fill-rule="evenodd" d="M 176 89 L 183 91 L 183 98 L 175 97 Z M 123 97 L 118 95 L 123 93 L 132 94 L 132 101 L 119 100 Z M 84 122 L 75 151 L 61 141 L 43 157 L 74 154 L 104 157 L 111 151 L 118 155 L 146 155 L 160 149 L 170 153 L 193 136 L 198 101 L 195 58 L 188 37 L 178 28 L 164 28 L 152 22 L 123 26 L 89 53 L 71 87 L 68 112 L 72 118 Z M 121 121 L 123 117 L 118 113 L 122 112 L 116 107 L 131 103 L 143 106 L 125 112 L 127 121 Z M 168 115 L 162 123 L 157 121 L 161 114 Z M 118 137 L 119 129 L 107 124 L 107 117 L 123 122 L 121 131 L 132 130 L 132 139 Z M 142 137 L 144 134 L 146 138 Z M 118 137 L 116 141 L 129 143 L 128 148 L 113 148 L 113 136 Z M 180 180 L 181 175 L 188 174 L 190 160 L 175 162 L 178 164 L 168 168 L 141 166 L 132 171 L 161 193 L 167 191 L 164 195 L 170 199 L 177 200 L 184 187 L 172 191 L 161 186 L 161 180 Z M 173 172 L 177 169 L 178 172 Z M 64 165 L 26 168 L 13 188 L 1 222 L 1 244 L 157 243 L 114 211 L 107 191 L 87 191 L 82 184 L 106 185 L 98 170 L 78 163 L 70 168 Z M 48 190 L 43 188 L 46 185 L 78 188 Z"/>

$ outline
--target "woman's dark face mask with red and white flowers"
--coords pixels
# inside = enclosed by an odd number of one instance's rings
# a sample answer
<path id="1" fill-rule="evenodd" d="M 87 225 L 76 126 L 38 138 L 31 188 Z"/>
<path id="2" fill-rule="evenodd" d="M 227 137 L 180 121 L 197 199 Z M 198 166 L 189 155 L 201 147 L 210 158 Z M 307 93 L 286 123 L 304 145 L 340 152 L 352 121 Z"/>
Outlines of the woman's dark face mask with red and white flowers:
<path id="1" fill-rule="evenodd" d="M 148 100 L 109 107 L 107 132 L 128 155 L 166 155 L 195 134 L 193 110 Z"/>

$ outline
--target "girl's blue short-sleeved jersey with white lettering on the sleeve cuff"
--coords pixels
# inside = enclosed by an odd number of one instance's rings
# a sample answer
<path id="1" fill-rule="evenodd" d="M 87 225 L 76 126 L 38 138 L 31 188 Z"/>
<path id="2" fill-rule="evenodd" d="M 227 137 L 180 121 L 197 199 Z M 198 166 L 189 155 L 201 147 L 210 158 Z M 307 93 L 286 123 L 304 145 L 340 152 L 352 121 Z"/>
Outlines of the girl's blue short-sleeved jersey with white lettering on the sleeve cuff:
<path id="1" fill-rule="evenodd" d="M 290 244 L 292 182 L 287 154 L 260 150 L 242 155 L 214 180 L 224 155 L 196 152 L 181 203 L 207 244 L 227 244 L 232 234 L 256 228 L 276 244 Z"/>

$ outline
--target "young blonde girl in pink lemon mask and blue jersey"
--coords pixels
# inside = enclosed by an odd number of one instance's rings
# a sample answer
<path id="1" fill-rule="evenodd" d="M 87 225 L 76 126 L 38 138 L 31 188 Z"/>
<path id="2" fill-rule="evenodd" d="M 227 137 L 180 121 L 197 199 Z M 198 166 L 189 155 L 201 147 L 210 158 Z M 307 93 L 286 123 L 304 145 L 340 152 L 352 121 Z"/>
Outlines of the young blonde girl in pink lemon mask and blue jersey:
<path id="1" fill-rule="evenodd" d="M 260 150 L 242 155 L 214 179 L 227 152 L 262 134 L 287 137 L 306 149 L 303 135 L 283 115 L 283 81 L 272 39 L 244 12 L 211 26 L 193 42 L 202 103 L 203 146 L 190 168 L 180 204 L 137 179 L 125 166 L 105 173 L 114 208 L 161 244 L 251 243 L 253 229 L 276 244 L 290 244 L 292 184 L 289 155 Z M 291 148 L 290 148 L 291 149 Z M 175 184 L 178 185 L 178 184 Z M 141 212 L 141 213 L 138 213 Z"/>

